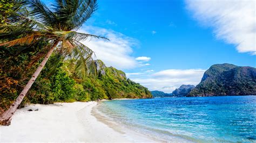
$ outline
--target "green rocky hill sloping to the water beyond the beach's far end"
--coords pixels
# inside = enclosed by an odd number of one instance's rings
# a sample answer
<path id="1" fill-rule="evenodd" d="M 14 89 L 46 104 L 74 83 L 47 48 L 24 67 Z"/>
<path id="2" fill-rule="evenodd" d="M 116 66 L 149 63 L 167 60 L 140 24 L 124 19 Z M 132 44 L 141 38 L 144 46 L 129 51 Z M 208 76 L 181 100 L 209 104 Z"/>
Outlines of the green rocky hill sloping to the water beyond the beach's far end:
<path id="1" fill-rule="evenodd" d="M 107 98 L 151 98 L 151 92 L 139 83 L 126 78 L 122 70 L 106 67 L 100 60 L 95 61 L 96 82 Z"/>

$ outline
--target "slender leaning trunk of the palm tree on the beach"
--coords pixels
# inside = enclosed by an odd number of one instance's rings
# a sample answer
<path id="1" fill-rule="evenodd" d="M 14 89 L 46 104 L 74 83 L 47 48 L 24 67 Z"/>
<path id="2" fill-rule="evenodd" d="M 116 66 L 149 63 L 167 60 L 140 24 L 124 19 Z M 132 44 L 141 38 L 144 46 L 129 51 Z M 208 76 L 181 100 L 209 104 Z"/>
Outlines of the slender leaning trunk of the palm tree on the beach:
<path id="1" fill-rule="evenodd" d="M 10 108 L 6 110 L 3 115 L 0 117 L 0 125 L 10 125 L 11 123 L 11 117 L 14 115 L 14 112 L 17 110 L 19 104 L 21 104 L 23 98 L 26 96 L 26 93 L 29 91 L 31 88 L 32 84 L 35 82 L 37 76 L 41 73 L 42 69 L 45 66 L 45 63 L 48 61 L 50 58 L 54 48 L 58 45 L 59 41 L 53 42 L 53 45 L 50 49 L 50 51 L 45 55 L 44 60 L 41 62 L 39 67 L 36 69 L 35 73 L 32 75 L 30 78 L 29 82 L 26 84 L 24 89 L 22 90 L 21 94 L 17 97 L 16 101 L 11 104 Z"/>

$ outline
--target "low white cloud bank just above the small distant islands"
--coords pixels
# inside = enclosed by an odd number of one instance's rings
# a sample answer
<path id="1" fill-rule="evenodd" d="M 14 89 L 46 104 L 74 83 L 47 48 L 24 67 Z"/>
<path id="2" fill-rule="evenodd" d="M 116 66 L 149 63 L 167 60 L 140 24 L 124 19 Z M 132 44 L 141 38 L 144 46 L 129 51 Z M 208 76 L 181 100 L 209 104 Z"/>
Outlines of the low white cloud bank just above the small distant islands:
<path id="1" fill-rule="evenodd" d="M 152 70 L 149 70 L 152 71 Z M 127 74 L 131 80 L 138 82 L 149 90 L 172 92 L 182 84 L 197 85 L 203 77 L 204 69 L 168 69 L 157 73 L 147 72 Z"/>

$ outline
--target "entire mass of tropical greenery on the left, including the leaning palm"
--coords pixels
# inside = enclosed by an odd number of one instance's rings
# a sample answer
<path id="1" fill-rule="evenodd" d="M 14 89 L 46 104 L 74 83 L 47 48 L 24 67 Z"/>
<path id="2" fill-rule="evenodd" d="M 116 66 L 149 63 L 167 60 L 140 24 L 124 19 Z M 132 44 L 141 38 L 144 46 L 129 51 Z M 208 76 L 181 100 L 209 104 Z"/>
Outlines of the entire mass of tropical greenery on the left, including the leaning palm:
<path id="1" fill-rule="evenodd" d="M 3 0 L 0 7 L 1 124 L 10 124 L 26 103 L 151 97 L 123 71 L 104 66 L 104 74 L 98 73 L 99 61 L 80 42 L 108 40 L 77 32 L 96 11 L 96 0 L 56 0 L 50 7 L 40 0 Z"/>

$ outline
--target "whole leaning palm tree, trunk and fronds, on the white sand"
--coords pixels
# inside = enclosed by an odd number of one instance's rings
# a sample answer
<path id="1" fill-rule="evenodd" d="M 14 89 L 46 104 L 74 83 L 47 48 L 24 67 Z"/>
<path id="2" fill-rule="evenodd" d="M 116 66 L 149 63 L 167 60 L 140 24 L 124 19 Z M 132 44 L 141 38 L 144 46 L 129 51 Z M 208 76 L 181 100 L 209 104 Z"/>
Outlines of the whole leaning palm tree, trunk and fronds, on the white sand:
<path id="1" fill-rule="evenodd" d="M 76 59 L 76 70 L 80 71 L 80 77 L 84 78 L 90 74 L 93 52 L 80 41 L 88 38 L 104 38 L 76 32 L 97 9 L 96 0 L 55 0 L 49 8 L 40 0 L 23 1 L 26 10 L 18 11 L 9 17 L 8 21 L 12 22 L 12 25 L 0 26 L 0 30 L 3 31 L 0 33 L 0 39 L 4 41 L 0 46 L 32 45 L 39 41 L 48 41 L 49 44 L 44 47 L 48 53 L 16 101 L 1 116 L 2 125 L 10 124 L 12 115 L 53 51 L 61 53 L 64 59 Z M 12 38 L 14 35 L 18 38 Z"/>

